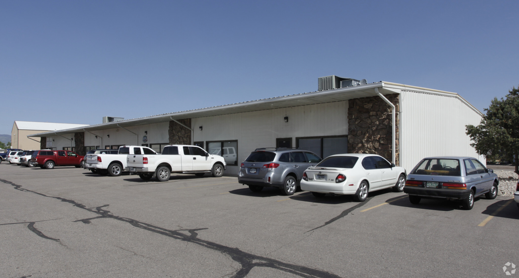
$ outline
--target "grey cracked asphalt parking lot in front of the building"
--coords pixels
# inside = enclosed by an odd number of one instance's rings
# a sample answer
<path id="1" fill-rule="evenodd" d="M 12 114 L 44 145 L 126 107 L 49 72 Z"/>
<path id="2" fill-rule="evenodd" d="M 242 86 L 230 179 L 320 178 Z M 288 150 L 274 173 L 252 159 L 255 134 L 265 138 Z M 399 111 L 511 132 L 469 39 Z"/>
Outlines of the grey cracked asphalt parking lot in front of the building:
<path id="1" fill-rule="evenodd" d="M 390 190 L 359 203 L 253 193 L 231 177 L 156 182 L 5 162 L 0 185 L 0 277 L 499 277 L 507 262 L 519 268 L 511 197 L 465 211 Z"/>

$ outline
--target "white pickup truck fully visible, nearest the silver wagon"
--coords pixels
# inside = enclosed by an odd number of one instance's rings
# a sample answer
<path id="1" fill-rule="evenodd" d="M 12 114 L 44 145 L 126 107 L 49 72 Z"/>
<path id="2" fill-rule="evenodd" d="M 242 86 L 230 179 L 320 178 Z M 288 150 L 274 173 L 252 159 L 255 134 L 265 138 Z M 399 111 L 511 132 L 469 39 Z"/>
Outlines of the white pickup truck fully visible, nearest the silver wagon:
<path id="1" fill-rule="evenodd" d="M 141 179 L 155 176 L 161 182 L 169 180 L 172 172 L 199 176 L 211 173 L 213 177 L 222 177 L 227 167 L 222 156 L 193 145 L 167 145 L 162 154 L 129 154 L 126 163 L 125 169 L 139 173 Z"/>

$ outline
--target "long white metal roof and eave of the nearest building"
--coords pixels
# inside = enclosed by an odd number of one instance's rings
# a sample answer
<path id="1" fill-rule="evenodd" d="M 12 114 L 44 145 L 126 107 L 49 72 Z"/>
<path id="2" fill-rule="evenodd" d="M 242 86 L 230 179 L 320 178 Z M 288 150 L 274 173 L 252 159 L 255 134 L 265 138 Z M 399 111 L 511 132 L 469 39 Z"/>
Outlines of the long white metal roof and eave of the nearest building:
<path id="1" fill-rule="evenodd" d="M 90 125 L 88 127 L 81 128 L 69 128 L 59 130 L 58 134 L 70 134 L 75 132 L 80 132 L 88 130 L 103 130 L 110 128 L 118 128 L 118 127 L 128 127 L 135 125 L 144 125 L 144 124 L 153 124 L 153 123 L 162 123 L 168 122 L 172 119 L 181 120 L 187 118 L 201 118 L 207 116 L 216 116 L 216 115 L 225 115 L 225 114 L 234 114 L 234 113 L 242 113 L 242 112 L 252 112 L 252 111 L 260 111 L 260 110 L 269 110 L 269 109 L 277 109 L 277 108 L 286 108 L 286 107 L 294 107 L 294 106 L 303 106 L 303 105 L 311 105 L 311 104 L 321 104 L 321 103 L 332 103 L 335 101 L 344 101 L 354 98 L 362 98 L 362 97 L 371 97 L 376 96 L 375 88 L 377 87 L 379 92 L 384 95 L 400 93 L 400 90 L 404 89 L 404 87 L 413 87 L 416 89 L 427 90 L 429 93 L 439 93 L 439 94 L 449 94 L 456 95 L 456 93 L 438 91 L 414 86 L 407 86 L 397 83 L 388 83 L 379 81 L 370 84 L 351 86 L 346 88 L 334 89 L 334 90 L 326 90 L 326 91 L 317 91 L 317 92 L 309 92 L 309 93 L 301 93 L 295 95 L 288 96 L 280 96 L 280 97 L 272 97 L 258 100 L 245 101 L 243 103 L 235 103 L 235 104 L 227 104 L 222 106 L 214 106 L 207 108 L 200 108 L 194 110 L 173 112 L 173 113 L 165 113 L 153 116 L 146 116 L 143 118 L 135 118 L 124 121 L 116 121 L 104 124 Z M 470 105 L 465 99 L 459 97 L 461 101 L 475 109 L 472 105 Z M 478 111 L 479 112 L 479 111 Z M 481 113 L 481 112 L 479 112 Z M 39 133 L 29 135 L 31 137 L 43 137 L 50 136 L 56 134 L 55 132 L 48 133 Z"/>

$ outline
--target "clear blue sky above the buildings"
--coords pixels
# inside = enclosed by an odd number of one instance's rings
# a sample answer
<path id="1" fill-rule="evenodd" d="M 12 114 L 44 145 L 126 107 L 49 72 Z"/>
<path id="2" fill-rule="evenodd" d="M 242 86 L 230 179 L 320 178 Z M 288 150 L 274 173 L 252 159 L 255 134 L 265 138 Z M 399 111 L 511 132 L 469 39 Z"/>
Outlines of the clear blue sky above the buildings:
<path id="1" fill-rule="evenodd" d="M 328 75 L 459 93 L 519 84 L 517 1 L 1 1 L 0 134 L 317 90 Z"/>

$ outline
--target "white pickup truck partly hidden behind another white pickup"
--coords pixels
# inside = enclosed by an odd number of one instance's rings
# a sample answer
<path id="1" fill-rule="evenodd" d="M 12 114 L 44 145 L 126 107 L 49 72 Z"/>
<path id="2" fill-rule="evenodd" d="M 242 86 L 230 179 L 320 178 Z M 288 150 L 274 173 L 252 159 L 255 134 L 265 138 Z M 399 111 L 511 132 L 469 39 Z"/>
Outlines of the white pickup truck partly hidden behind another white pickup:
<path id="1" fill-rule="evenodd" d="M 91 153 L 90 153 L 91 152 Z M 92 150 L 85 156 L 85 169 L 97 174 L 117 177 L 126 168 L 126 156 L 132 154 L 157 154 L 154 150 L 141 146 L 121 146 L 119 150 Z"/>

